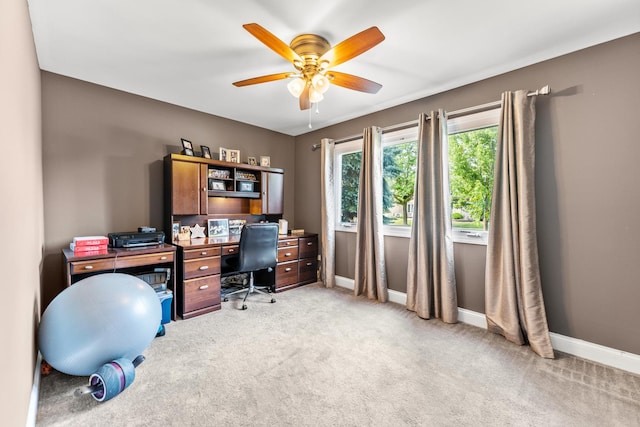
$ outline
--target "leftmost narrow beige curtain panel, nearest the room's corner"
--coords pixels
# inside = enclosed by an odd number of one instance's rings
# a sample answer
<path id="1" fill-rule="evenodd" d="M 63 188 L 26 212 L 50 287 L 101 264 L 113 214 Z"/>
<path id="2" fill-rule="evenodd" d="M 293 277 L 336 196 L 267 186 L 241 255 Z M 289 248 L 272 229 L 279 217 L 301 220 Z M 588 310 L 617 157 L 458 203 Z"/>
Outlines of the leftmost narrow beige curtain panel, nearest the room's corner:
<path id="1" fill-rule="evenodd" d="M 333 288 L 336 283 L 336 196 L 333 176 L 333 155 L 335 144 L 333 139 L 322 139 L 320 141 L 320 149 L 320 170 L 322 174 L 320 179 L 322 197 L 322 232 L 320 236 L 322 257 L 320 261 L 320 278 L 325 287 Z"/>

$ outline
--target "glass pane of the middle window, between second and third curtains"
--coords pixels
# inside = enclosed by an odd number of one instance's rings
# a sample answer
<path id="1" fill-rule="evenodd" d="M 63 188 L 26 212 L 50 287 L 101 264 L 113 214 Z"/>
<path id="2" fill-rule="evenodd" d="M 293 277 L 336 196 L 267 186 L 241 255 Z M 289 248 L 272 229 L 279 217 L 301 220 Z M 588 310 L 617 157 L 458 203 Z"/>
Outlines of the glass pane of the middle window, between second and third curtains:
<path id="1" fill-rule="evenodd" d="M 416 154 L 416 141 L 388 145 L 383 149 L 382 210 L 387 225 L 411 225 Z"/>

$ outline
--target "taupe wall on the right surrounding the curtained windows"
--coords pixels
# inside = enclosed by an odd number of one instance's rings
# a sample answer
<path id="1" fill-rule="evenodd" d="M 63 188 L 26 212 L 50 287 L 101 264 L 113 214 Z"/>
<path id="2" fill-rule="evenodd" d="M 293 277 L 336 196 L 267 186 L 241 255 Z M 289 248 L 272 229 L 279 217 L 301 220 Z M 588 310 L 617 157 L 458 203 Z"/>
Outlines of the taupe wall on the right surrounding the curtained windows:
<path id="1" fill-rule="evenodd" d="M 415 120 L 537 89 L 540 268 L 552 332 L 640 354 L 640 34 L 635 34 L 296 138 L 296 227 L 320 231 L 321 138 Z M 425 72 L 428 72 L 426 70 Z M 384 89 L 383 89 L 384 90 Z M 332 96 L 337 96 L 336 91 Z M 338 233 L 337 272 L 353 277 L 353 236 Z M 386 240 L 389 286 L 405 290 L 408 241 Z M 456 244 L 459 305 L 484 312 L 484 247 Z"/>

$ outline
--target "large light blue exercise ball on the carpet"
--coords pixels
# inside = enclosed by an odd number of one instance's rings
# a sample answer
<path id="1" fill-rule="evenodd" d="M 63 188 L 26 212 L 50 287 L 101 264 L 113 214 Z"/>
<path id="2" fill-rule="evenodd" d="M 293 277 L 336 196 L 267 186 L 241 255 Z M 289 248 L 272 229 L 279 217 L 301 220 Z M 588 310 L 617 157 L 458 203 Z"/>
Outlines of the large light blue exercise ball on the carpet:
<path id="1" fill-rule="evenodd" d="M 90 375 L 112 360 L 149 347 L 162 306 L 145 281 L 122 273 L 87 277 L 49 304 L 38 328 L 40 352 L 56 370 Z"/>

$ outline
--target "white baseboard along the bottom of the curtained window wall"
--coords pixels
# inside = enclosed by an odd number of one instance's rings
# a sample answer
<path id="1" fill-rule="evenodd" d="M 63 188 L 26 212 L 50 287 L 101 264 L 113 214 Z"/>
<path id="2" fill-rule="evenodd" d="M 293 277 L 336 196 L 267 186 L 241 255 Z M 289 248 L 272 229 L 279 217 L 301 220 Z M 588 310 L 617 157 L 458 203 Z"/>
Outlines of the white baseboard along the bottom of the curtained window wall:
<path id="1" fill-rule="evenodd" d="M 336 285 L 341 288 L 354 289 L 353 279 L 347 277 L 336 276 Z M 407 294 L 390 289 L 389 301 L 406 305 Z M 465 308 L 458 307 L 458 321 L 487 329 L 487 319 L 484 314 Z M 554 350 L 640 375 L 640 355 L 560 335 L 555 332 L 550 332 L 549 336 Z"/>

